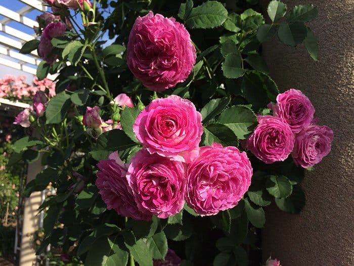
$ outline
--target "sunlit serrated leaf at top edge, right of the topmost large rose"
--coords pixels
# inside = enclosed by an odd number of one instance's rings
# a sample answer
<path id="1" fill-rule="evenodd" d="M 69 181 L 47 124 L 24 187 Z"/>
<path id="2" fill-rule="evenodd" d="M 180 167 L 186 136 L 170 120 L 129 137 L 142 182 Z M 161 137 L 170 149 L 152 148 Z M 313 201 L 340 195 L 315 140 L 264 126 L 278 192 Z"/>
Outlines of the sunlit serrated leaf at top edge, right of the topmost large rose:
<path id="1" fill-rule="evenodd" d="M 228 11 L 217 1 L 207 1 L 193 8 L 185 20 L 189 28 L 214 28 L 222 25 L 228 18 Z"/>

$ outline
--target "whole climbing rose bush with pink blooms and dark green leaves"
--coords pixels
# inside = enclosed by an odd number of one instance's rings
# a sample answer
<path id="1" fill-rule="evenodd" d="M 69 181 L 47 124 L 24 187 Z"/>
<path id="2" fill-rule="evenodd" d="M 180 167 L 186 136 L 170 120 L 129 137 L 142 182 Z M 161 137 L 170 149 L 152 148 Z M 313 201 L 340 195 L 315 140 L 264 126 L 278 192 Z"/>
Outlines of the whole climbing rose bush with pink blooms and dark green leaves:
<path id="1" fill-rule="evenodd" d="M 299 90 L 279 93 L 259 51 L 277 33 L 316 59 L 305 23 L 317 9 L 274 0 L 266 24 L 255 2 L 47 1 L 60 21 L 22 52 L 38 48 L 37 82 L 55 74 L 56 94 L 41 90 L 19 115 L 40 138 L 14 146 L 16 160 L 43 154 L 46 165 L 24 195 L 55 192 L 40 207 L 38 253 L 51 244 L 87 266 L 245 266 L 265 206 L 301 211 L 304 168 L 333 134 Z"/>

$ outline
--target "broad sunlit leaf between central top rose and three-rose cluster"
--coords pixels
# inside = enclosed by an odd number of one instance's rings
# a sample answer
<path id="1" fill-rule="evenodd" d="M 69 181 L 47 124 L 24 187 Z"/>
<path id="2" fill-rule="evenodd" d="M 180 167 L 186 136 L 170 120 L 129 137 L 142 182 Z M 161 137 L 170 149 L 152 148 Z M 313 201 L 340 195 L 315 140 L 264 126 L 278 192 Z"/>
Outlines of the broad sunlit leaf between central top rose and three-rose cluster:
<path id="1" fill-rule="evenodd" d="M 244 105 L 235 105 L 222 112 L 216 121 L 229 127 L 239 139 L 245 139 L 257 124 L 254 112 Z"/>

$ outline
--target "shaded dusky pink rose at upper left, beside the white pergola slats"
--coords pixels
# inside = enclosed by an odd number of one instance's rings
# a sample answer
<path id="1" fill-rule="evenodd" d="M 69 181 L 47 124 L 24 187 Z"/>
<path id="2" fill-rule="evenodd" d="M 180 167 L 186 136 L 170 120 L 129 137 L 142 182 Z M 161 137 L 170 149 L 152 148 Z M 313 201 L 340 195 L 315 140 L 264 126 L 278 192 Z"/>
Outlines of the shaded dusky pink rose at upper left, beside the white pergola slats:
<path id="1" fill-rule="evenodd" d="M 52 54 L 54 37 L 64 36 L 66 25 L 62 22 L 50 23 L 42 33 L 38 46 L 38 54 L 48 64 L 53 65 L 57 59 L 57 55 Z"/>

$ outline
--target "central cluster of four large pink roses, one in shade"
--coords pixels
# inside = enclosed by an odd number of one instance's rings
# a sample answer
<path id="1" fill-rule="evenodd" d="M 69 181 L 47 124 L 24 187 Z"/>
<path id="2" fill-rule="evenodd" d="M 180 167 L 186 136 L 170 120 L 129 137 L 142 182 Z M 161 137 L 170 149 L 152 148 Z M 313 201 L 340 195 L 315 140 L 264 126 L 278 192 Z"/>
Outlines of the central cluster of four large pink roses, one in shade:
<path id="1" fill-rule="evenodd" d="M 186 201 L 200 215 L 238 204 L 252 167 L 246 153 L 218 143 L 199 148 L 201 114 L 179 96 L 153 100 L 133 130 L 143 149 L 124 164 L 113 153 L 98 164 L 96 185 L 108 209 L 148 220 L 179 213 Z"/>

